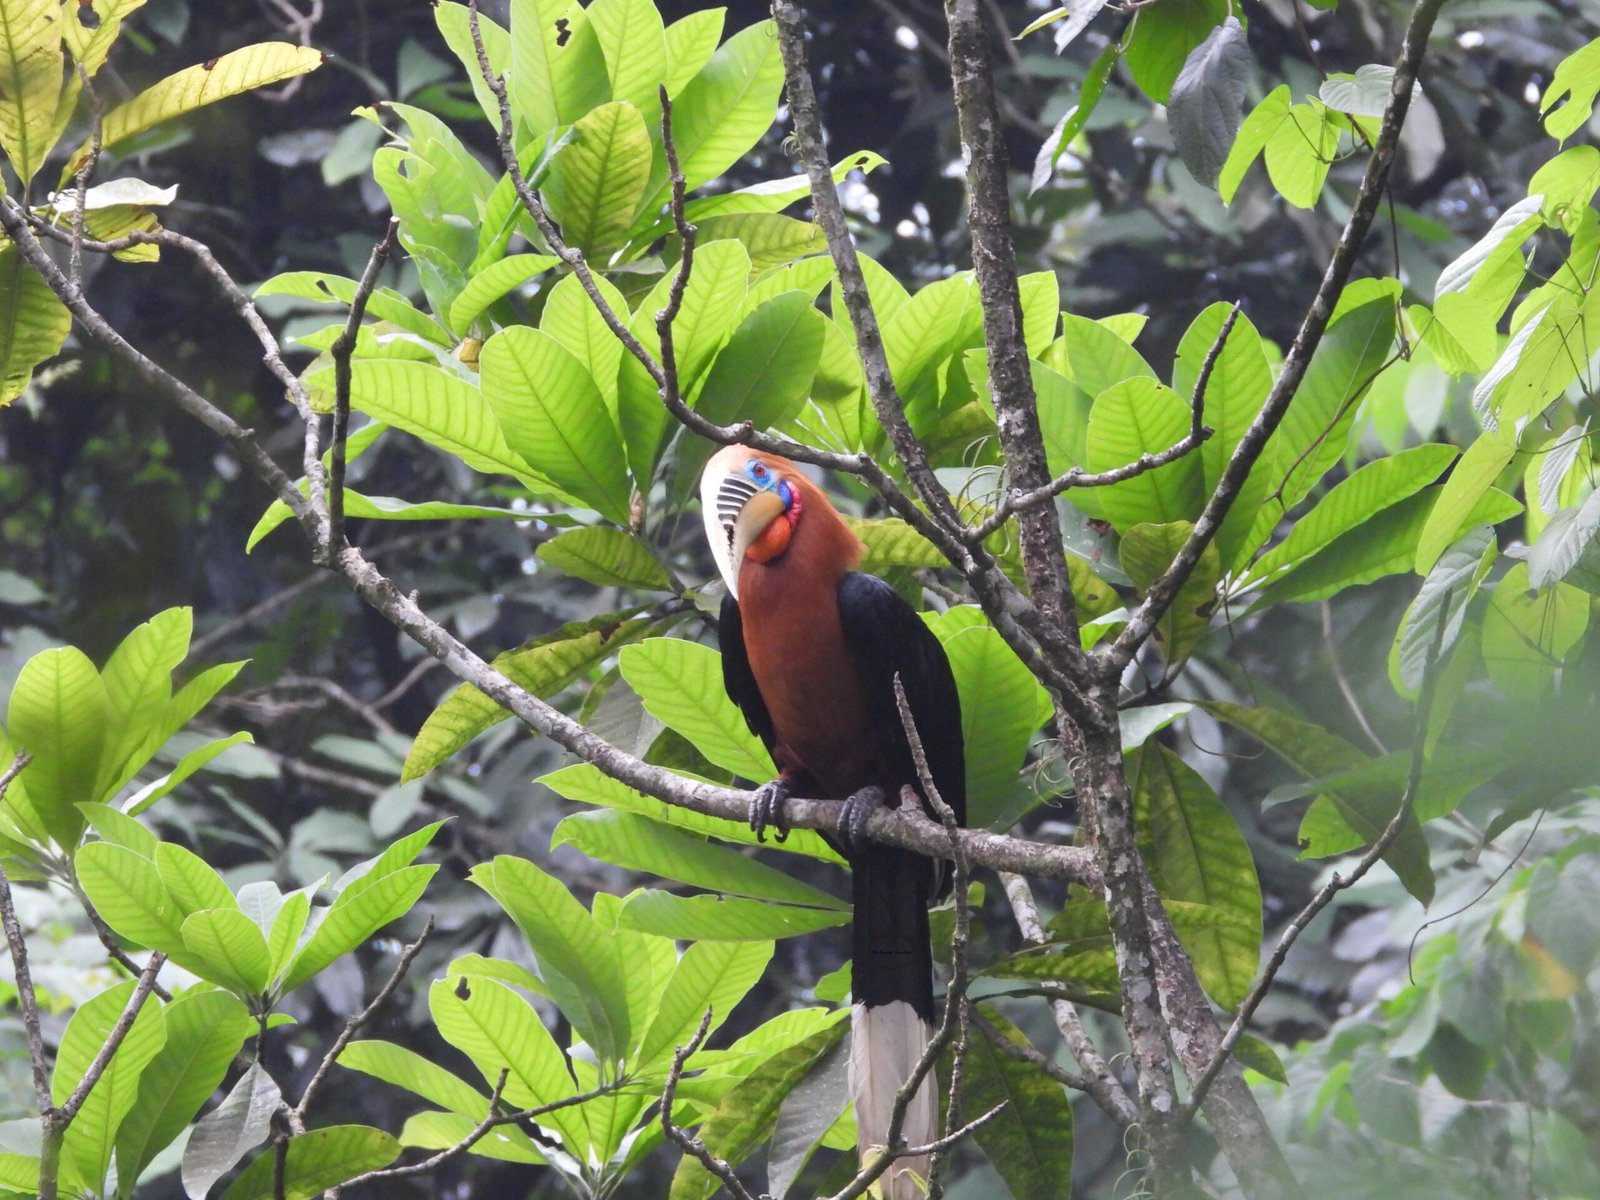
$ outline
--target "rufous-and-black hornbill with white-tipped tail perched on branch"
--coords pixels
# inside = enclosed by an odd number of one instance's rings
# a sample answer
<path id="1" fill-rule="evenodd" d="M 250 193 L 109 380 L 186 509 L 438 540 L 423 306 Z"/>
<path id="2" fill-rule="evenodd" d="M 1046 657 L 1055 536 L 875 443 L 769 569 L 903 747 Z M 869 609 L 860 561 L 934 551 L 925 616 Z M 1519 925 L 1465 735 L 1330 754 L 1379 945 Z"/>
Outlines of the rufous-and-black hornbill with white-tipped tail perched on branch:
<path id="1" fill-rule="evenodd" d="M 850 1091 L 866 1160 L 888 1139 L 894 1096 L 933 1032 L 928 902 L 942 864 L 864 837 L 867 818 L 922 792 L 894 698 L 910 717 L 942 800 L 965 824 L 962 706 L 944 646 L 882 579 L 853 568 L 861 542 L 794 462 L 728 446 L 701 477 L 706 536 L 728 584 L 722 602 L 723 685 L 779 768 L 750 805 L 757 835 L 787 834 L 790 794 L 842 800 L 838 850 L 850 861 Z M 925 808 L 926 798 L 920 797 Z M 902 1125 L 907 1146 L 936 1134 L 930 1072 Z M 901 1158 L 885 1195 L 925 1189 L 926 1158 Z"/>

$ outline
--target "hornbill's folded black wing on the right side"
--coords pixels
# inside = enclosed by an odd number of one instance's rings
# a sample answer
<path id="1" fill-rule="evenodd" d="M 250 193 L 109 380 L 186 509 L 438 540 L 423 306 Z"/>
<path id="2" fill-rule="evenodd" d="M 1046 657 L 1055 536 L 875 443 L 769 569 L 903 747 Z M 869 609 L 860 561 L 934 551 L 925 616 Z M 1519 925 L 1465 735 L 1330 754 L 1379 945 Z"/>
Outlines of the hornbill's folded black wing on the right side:
<path id="1" fill-rule="evenodd" d="M 928 773 L 944 803 L 954 810 L 957 822 L 965 826 L 962 698 L 939 638 L 893 587 L 859 571 L 838 581 L 838 619 L 866 691 L 872 736 L 893 750 L 891 766 L 898 776 L 893 784 L 917 784 L 917 766 L 894 702 L 894 675 L 899 674 L 912 723 L 928 755 Z"/>

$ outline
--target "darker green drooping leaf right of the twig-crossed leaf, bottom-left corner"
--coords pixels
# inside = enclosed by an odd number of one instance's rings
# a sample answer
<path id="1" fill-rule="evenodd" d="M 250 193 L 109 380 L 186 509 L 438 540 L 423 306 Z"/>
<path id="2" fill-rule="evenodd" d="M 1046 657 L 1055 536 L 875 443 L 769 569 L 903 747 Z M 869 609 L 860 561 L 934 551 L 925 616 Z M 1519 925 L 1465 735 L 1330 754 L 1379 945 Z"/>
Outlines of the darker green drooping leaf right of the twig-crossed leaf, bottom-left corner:
<path id="1" fill-rule="evenodd" d="M 117 1133 L 120 1197 L 133 1195 L 144 1168 L 189 1126 L 256 1029 L 227 992 L 186 992 L 163 1016 L 166 1042 L 139 1075 L 138 1099 Z"/>

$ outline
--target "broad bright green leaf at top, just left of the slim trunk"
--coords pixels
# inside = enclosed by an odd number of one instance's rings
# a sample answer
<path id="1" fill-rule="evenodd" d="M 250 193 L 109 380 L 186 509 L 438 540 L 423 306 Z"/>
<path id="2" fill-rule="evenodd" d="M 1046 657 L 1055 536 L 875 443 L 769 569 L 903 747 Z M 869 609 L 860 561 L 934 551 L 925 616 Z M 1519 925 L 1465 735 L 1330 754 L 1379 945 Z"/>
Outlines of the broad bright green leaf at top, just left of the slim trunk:
<path id="1" fill-rule="evenodd" d="M 741 29 L 717 48 L 672 106 L 672 141 L 685 186 L 694 190 L 742 158 L 773 123 L 784 64 L 770 21 Z M 654 214 L 667 202 L 667 165 L 658 158 L 648 200 Z"/>

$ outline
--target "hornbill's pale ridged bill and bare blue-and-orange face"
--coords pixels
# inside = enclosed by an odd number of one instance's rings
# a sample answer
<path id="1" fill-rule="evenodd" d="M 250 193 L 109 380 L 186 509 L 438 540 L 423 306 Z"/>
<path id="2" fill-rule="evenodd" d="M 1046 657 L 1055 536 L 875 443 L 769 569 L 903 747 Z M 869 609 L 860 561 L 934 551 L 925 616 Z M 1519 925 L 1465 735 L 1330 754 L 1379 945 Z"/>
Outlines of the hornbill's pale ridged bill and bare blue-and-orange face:
<path id="1" fill-rule="evenodd" d="M 808 491 L 795 464 L 749 446 L 725 446 L 701 475 L 706 538 L 728 590 L 739 598 L 746 558 L 766 563 L 789 549 Z"/>

